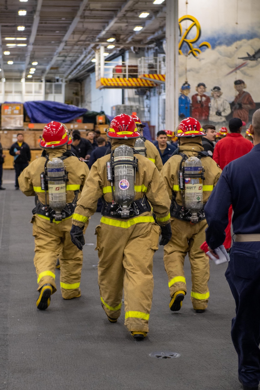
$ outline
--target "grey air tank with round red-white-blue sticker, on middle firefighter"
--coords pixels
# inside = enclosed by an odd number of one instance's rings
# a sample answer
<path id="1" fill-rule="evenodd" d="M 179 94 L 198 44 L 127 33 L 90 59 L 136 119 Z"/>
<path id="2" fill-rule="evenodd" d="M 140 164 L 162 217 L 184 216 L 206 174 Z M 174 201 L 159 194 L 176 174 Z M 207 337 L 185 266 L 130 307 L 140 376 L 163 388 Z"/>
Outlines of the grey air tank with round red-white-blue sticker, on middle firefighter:
<path id="1" fill-rule="evenodd" d="M 134 152 L 130 146 L 120 145 L 114 151 L 115 202 L 122 206 L 122 218 L 129 216 L 127 207 L 134 201 Z"/>

